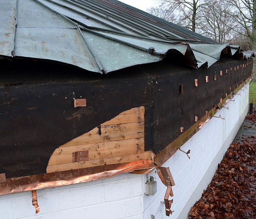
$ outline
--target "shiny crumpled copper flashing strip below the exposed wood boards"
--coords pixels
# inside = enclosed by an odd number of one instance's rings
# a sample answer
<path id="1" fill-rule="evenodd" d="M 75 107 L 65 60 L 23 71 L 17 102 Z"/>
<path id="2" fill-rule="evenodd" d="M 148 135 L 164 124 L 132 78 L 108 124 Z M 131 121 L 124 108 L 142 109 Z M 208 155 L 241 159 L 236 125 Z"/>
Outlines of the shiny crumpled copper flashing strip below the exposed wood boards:
<path id="1" fill-rule="evenodd" d="M 152 170 L 154 168 L 155 165 L 152 159 L 144 159 L 128 163 L 10 178 L 6 179 L 6 182 L 4 183 L 0 183 L 0 195 L 84 183 L 110 178 L 120 173 L 127 173 L 135 170 L 145 171 L 145 169 Z"/>

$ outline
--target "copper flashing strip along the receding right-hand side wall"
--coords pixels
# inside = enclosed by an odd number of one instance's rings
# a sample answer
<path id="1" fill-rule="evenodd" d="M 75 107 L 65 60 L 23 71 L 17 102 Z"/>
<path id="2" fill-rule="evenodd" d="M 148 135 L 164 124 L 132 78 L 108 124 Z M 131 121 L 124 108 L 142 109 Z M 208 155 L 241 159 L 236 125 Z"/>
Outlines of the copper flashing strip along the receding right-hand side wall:
<path id="1" fill-rule="evenodd" d="M 231 99 L 234 97 L 234 94 L 237 94 L 242 87 L 249 82 L 250 77 L 241 84 L 238 88 L 234 89 L 225 99 L 222 100 L 222 103 L 218 104 L 218 108 L 222 109 L 228 102 L 232 101 Z M 217 109 L 212 109 L 208 112 L 208 116 L 202 117 L 199 121 L 194 123 L 188 130 L 184 131 L 182 135 L 176 138 L 172 143 L 170 143 L 167 147 L 165 147 L 162 151 L 154 156 L 154 162 L 158 167 L 162 166 L 174 153 L 184 144 L 188 139 L 190 139 L 194 134 L 196 134 L 204 125 L 204 123 L 210 121 L 210 119 L 216 114 Z"/>

